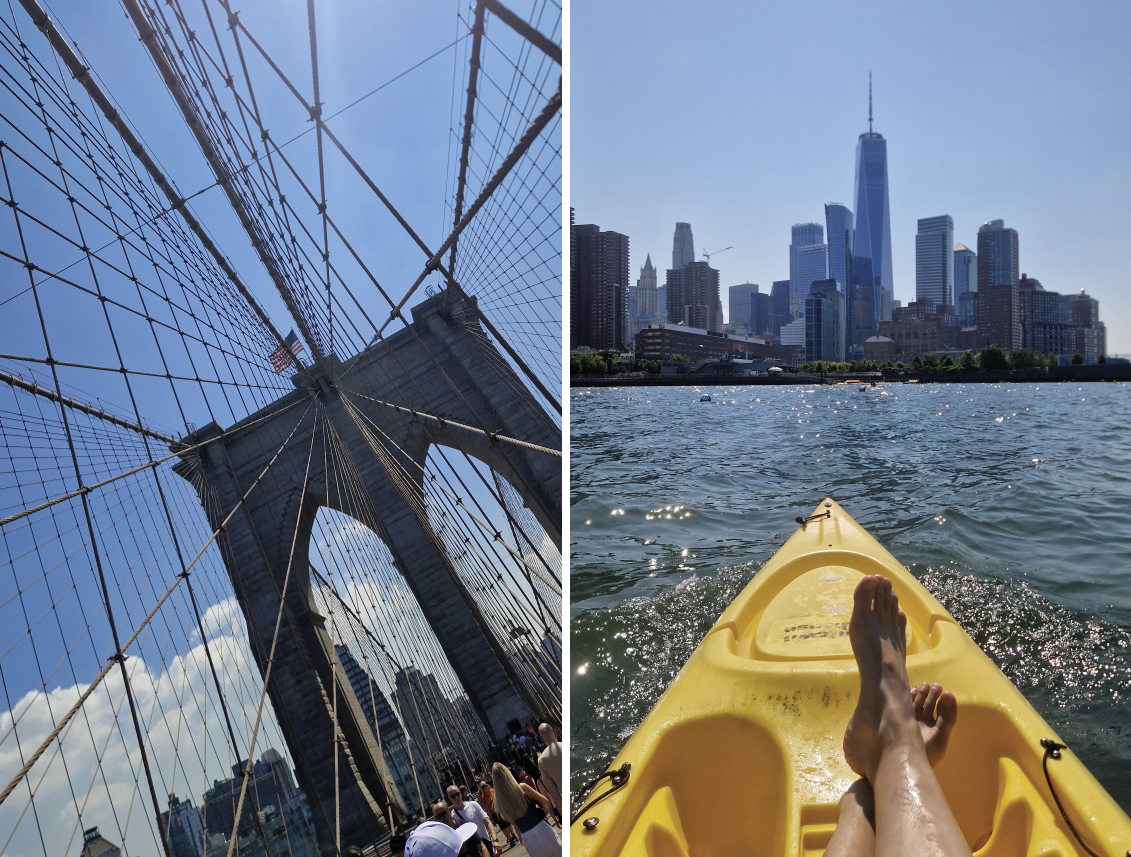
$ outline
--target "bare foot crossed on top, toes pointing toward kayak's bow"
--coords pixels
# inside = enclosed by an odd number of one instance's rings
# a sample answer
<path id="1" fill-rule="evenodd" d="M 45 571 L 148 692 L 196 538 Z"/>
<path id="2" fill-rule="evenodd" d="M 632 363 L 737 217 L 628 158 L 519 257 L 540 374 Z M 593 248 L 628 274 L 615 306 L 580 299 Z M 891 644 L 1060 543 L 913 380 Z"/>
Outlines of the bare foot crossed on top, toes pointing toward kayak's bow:
<path id="1" fill-rule="evenodd" d="M 886 746 L 917 741 L 915 713 L 907 693 L 907 616 L 891 581 L 879 575 L 861 579 L 853 596 L 848 640 L 860 668 L 860 699 L 845 729 L 845 760 L 861 777 L 875 782 L 875 769 Z"/>

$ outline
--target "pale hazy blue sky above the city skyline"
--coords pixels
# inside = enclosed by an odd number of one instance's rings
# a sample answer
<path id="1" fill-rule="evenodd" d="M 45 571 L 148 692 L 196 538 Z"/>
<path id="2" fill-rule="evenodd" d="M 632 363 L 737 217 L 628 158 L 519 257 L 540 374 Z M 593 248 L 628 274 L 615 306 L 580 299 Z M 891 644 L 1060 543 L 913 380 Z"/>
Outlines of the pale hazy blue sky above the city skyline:
<path id="1" fill-rule="evenodd" d="M 576 0 L 570 205 L 671 266 L 676 220 L 728 286 L 789 276 L 789 227 L 853 201 L 856 139 L 888 140 L 895 296 L 915 297 L 916 219 L 955 240 L 1002 218 L 1021 270 L 1099 300 L 1131 352 L 1131 5 Z"/>

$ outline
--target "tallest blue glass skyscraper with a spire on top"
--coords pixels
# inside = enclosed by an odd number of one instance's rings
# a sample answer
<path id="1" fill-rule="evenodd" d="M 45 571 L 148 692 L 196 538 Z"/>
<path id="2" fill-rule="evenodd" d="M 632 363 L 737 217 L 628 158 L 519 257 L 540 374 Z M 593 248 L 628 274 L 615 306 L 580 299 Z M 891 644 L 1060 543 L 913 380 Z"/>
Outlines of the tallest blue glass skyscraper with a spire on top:
<path id="1" fill-rule="evenodd" d="M 872 130 L 872 76 L 867 76 L 867 132 L 856 142 L 857 286 L 872 292 L 874 324 L 891 320 L 891 208 L 888 204 L 888 141 Z"/>

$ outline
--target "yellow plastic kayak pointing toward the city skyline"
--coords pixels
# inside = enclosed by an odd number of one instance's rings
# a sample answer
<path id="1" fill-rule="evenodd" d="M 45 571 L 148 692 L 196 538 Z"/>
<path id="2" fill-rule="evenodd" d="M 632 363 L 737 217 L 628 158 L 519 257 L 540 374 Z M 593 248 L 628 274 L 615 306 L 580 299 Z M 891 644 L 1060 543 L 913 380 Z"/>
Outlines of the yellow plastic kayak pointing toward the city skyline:
<path id="1" fill-rule="evenodd" d="M 1131 849 L 1131 819 L 930 592 L 831 500 L 719 616 L 594 787 L 575 857 L 817 857 L 856 779 L 840 742 L 860 677 L 856 581 L 891 579 L 912 685 L 939 682 L 958 722 L 935 774 L 976 855 Z M 624 768 L 628 765 L 628 768 Z M 623 773 L 627 772 L 627 779 Z"/>

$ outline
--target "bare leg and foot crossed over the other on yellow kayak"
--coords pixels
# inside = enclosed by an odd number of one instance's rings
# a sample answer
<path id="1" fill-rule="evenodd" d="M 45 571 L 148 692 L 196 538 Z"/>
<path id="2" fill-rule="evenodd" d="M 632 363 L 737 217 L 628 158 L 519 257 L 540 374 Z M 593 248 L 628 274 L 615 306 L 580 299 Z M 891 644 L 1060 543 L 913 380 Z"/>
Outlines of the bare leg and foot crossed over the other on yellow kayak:
<path id="1" fill-rule="evenodd" d="M 861 692 L 845 730 L 845 759 L 872 784 L 877 857 L 968 856 L 969 848 L 927 761 L 921 721 L 908 693 L 906 627 L 907 617 L 891 581 L 863 578 L 848 623 Z"/>

